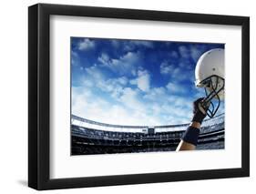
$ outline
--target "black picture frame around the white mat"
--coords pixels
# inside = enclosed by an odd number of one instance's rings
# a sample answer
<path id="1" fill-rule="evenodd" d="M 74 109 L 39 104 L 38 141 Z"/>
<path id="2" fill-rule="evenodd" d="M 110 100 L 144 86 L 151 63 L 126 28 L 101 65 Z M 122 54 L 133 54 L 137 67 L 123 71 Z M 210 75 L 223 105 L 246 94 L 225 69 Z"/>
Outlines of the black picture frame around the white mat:
<path id="1" fill-rule="evenodd" d="M 241 26 L 241 168 L 206 169 L 118 176 L 50 179 L 50 15 Z M 37 4 L 28 8 L 28 186 L 69 189 L 111 185 L 250 176 L 250 18 L 177 12 Z M 239 128 L 239 127 L 238 127 Z"/>

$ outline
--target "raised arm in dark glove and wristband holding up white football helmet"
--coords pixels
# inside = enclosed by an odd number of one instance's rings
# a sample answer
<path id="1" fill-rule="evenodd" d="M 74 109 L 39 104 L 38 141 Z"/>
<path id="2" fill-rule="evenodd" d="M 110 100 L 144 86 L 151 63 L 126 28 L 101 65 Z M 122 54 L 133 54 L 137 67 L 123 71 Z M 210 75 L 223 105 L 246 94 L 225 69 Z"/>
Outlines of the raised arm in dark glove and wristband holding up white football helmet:
<path id="1" fill-rule="evenodd" d="M 206 116 L 214 117 L 224 98 L 224 49 L 207 51 L 197 63 L 195 85 L 205 89 L 206 97 L 200 97 L 193 103 L 193 118 L 177 147 L 179 150 L 195 149 L 200 135 L 200 125 Z M 214 106 L 217 99 L 218 105 Z"/>

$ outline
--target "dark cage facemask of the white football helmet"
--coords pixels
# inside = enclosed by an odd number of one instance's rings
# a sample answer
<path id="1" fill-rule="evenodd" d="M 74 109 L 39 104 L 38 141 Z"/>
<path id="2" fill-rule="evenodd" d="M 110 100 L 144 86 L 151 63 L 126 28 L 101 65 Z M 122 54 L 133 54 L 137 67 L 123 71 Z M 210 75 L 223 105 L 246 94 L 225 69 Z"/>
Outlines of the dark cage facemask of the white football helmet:
<path id="1" fill-rule="evenodd" d="M 220 107 L 220 100 L 224 96 L 225 81 L 222 77 L 213 75 L 200 82 L 200 87 L 204 87 L 204 99 L 200 102 L 200 110 L 208 117 L 214 117 Z"/>

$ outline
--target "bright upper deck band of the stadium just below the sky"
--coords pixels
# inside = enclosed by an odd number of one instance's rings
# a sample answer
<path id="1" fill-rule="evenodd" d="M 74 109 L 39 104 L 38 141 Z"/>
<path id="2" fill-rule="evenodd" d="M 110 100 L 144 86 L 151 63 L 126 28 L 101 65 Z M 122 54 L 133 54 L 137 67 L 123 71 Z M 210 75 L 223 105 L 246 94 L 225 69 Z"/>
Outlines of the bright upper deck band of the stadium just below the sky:
<path id="1" fill-rule="evenodd" d="M 220 123 L 224 123 L 224 113 L 205 119 L 202 122 L 201 128 L 206 128 L 210 126 L 215 126 Z M 167 125 L 167 126 L 127 126 L 127 125 L 114 125 L 114 124 L 107 124 L 101 123 L 93 120 L 89 120 L 84 117 L 77 117 L 75 115 L 71 116 L 71 124 L 83 127 L 83 128 L 92 128 L 97 130 L 103 131 L 115 131 L 115 132 L 130 132 L 130 133 L 145 133 L 148 131 L 148 128 L 154 128 L 155 132 L 169 132 L 169 131 L 181 131 L 185 130 L 189 123 L 179 124 L 179 125 Z"/>

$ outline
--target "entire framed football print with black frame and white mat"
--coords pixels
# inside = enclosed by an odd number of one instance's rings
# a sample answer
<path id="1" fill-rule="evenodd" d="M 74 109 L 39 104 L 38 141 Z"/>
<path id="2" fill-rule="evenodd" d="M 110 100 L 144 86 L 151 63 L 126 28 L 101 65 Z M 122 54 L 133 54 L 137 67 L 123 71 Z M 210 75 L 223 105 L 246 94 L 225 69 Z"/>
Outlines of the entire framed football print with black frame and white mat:
<path id="1" fill-rule="evenodd" d="M 250 19 L 28 8 L 28 186 L 250 174 Z"/>

